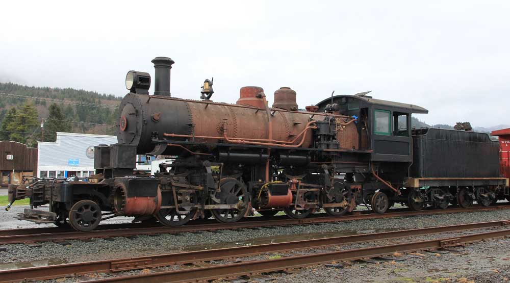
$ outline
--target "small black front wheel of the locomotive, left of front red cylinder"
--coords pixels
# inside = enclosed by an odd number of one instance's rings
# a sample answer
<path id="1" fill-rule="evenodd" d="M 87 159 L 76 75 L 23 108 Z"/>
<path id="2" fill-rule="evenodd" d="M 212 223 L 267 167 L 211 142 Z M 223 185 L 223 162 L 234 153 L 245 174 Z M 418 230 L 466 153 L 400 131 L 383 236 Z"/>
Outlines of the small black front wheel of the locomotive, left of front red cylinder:
<path id="1" fill-rule="evenodd" d="M 101 221 L 101 208 L 92 200 L 80 200 L 69 211 L 69 224 L 78 231 L 91 231 Z"/>

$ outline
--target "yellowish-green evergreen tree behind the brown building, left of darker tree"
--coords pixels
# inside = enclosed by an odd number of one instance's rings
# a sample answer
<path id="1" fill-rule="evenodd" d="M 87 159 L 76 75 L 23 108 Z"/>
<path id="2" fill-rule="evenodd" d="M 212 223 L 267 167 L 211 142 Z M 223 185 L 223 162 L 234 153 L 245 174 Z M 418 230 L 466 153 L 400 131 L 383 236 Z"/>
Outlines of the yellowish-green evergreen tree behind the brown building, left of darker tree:
<path id="1" fill-rule="evenodd" d="M 40 131 L 37 109 L 26 101 L 16 112 L 15 119 L 7 125 L 9 140 L 37 146 L 36 132 Z"/>

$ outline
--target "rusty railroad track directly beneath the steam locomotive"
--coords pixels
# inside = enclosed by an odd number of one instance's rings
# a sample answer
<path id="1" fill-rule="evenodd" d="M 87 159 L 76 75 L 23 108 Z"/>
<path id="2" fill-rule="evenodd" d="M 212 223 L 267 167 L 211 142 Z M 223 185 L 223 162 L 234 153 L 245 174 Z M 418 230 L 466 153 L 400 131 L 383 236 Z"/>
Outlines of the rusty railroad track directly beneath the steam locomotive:
<path id="1" fill-rule="evenodd" d="M 493 210 L 506 210 L 510 209 L 510 205 L 494 205 L 491 207 L 475 206 L 467 209 L 462 208 L 448 208 L 444 210 L 424 210 L 424 211 L 401 211 L 389 212 L 385 214 L 375 213 L 359 213 L 346 215 L 341 217 L 326 217 L 316 216 L 304 219 L 290 219 L 286 216 L 272 218 L 271 220 L 260 220 L 262 217 L 249 217 L 244 221 L 224 224 L 215 221 L 197 221 L 195 223 L 177 227 L 166 226 L 137 226 L 124 224 L 108 224 L 119 225 L 121 228 L 106 228 L 102 227 L 97 230 L 89 232 L 81 232 L 74 230 L 62 230 L 59 228 L 30 228 L 30 229 L 10 229 L 0 230 L 0 245 L 6 244 L 19 244 L 19 243 L 35 243 L 35 242 L 59 242 L 67 240 L 86 240 L 92 238 L 112 238 L 112 237 L 133 237 L 138 235 L 156 235 L 156 234 L 178 234 L 178 233 L 196 233 L 200 231 L 214 231 L 224 229 L 240 229 L 240 228 L 257 228 L 257 227 L 270 227 L 270 226 L 285 226 L 285 225 L 302 225 L 314 223 L 328 223 L 340 221 L 352 221 L 362 219 L 380 219 L 380 218 L 393 218 L 393 217 L 406 217 L 418 215 L 431 215 L 431 214 L 445 214 L 445 213 L 462 213 L 462 212 L 475 212 L 475 211 L 493 211 Z M 104 225 L 110 227 L 108 225 Z M 43 231 L 39 231 L 42 229 Z M 50 232 L 48 232 L 48 230 Z M 51 232 L 51 229 L 57 229 L 56 232 Z"/>

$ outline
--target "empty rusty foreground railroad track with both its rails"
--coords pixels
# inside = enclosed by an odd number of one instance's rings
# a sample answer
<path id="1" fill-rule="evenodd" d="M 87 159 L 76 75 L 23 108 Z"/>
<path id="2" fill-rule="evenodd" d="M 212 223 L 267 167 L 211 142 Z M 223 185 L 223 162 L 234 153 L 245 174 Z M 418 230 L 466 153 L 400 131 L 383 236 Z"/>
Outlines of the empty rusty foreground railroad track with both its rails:
<path id="1" fill-rule="evenodd" d="M 282 243 L 270 243 L 253 246 L 239 246 L 199 251 L 188 251 L 138 258 L 104 260 L 86 263 L 62 264 L 53 266 L 31 267 L 0 271 L 0 283 L 18 282 L 22 280 L 53 279 L 64 276 L 77 276 L 92 272 L 110 273 L 135 269 L 170 266 L 175 264 L 189 264 L 229 258 L 241 258 L 263 253 L 314 249 L 343 245 L 347 243 L 370 242 L 388 240 L 410 236 L 421 236 L 436 233 L 447 233 L 470 229 L 484 229 L 510 226 L 510 221 L 492 221 L 462 225 L 439 226 L 420 229 L 390 231 L 384 233 L 362 234 L 342 237 L 310 239 Z M 156 273 L 94 280 L 93 282 L 189 282 L 210 280 L 223 277 L 241 276 L 254 273 L 286 270 L 304 266 L 330 263 L 333 261 L 357 260 L 390 255 L 394 252 L 409 252 L 426 249 L 449 248 L 461 244 L 471 243 L 483 239 L 498 238 L 510 235 L 510 229 L 499 229 L 485 233 L 470 234 L 455 238 L 402 243 L 362 249 L 342 250 L 334 252 L 312 253 L 287 258 L 249 261 L 235 264 L 214 265 L 201 268 L 181 269 L 175 271 L 160 271 Z"/>

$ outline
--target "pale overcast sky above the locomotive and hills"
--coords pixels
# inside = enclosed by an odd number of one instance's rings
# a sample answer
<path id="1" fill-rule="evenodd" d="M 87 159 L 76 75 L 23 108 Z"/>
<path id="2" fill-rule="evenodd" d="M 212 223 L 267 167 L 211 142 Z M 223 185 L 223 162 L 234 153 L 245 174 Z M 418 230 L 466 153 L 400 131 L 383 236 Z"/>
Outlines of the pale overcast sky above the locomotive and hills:
<path id="1" fill-rule="evenodd" d="M 124 95 L 125 73 L 171 57 L 172 96 L 242 86 L 298 105 L 372 90 L 427 123 L 510 124 L 509 1 L 8 1 L 0 81 Z"/>

